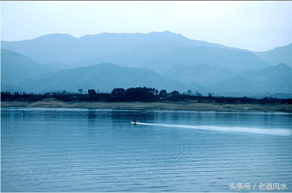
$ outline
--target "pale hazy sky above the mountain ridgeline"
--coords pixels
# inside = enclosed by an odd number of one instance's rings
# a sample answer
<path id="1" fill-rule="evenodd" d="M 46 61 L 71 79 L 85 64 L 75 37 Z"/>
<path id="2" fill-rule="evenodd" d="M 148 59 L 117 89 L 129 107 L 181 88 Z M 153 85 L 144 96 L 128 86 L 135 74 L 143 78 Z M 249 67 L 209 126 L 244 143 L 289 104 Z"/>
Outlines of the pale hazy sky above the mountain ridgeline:
<path id="1" fill-rule="evenodd" d="M 292 42 L 292 1 L 2 1 L 1 40 L 163 32 L 265 51 Z"/>

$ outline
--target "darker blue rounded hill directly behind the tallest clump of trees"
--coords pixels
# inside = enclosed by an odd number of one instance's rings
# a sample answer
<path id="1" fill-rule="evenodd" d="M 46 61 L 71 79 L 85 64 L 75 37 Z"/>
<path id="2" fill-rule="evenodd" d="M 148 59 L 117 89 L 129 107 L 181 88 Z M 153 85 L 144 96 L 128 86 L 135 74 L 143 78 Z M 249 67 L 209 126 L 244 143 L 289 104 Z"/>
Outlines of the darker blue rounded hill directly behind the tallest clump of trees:
<path id="1" fill-rule="evenodd" d="M 38 78 L 34 81 L 24 81 L 18 84 L 33 92 L 66 90 L 78 92 L 78 89 L 95 89 L 100 92 L 110 92 L 113 88 L 154 87 L 158 90 L 182 90 L 184 85 L 168 80 L 152 70 L 135 67 L 122 67 L 104 63 L 86 67 L 61 70 L 54 74 Z"/>

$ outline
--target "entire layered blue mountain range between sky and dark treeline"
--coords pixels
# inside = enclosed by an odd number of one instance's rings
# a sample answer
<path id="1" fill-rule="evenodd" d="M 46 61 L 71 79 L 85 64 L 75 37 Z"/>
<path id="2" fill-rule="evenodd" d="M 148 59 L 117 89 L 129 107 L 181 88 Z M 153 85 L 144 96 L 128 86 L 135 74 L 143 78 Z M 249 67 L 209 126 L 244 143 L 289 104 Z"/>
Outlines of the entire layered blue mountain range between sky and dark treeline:
<path id="1" fill-rule="evenodd" d="M 222 96 L 290 96 L 291 66 L 292 44 L 252 52 L 168 31 L 1 41 L 1 90 L 10 91 L 146 86 Z"/>

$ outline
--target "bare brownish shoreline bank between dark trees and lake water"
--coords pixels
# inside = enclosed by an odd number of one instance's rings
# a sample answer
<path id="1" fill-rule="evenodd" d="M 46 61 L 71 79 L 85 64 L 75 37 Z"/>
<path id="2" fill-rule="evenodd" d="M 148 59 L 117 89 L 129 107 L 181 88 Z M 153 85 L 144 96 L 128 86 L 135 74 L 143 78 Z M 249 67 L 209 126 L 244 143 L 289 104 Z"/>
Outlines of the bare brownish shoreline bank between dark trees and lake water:
<path id="1" fill-rule="evenodd" d="M 292 104 L 225 104 L 194 102 L 64 102 L 56 100 L 1 101 L 1 107 L 45 107 L 125 110 L 274 111 L 292 113 Z"/>

